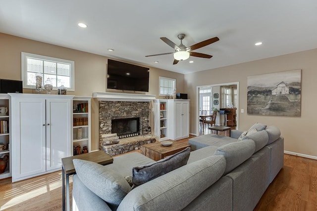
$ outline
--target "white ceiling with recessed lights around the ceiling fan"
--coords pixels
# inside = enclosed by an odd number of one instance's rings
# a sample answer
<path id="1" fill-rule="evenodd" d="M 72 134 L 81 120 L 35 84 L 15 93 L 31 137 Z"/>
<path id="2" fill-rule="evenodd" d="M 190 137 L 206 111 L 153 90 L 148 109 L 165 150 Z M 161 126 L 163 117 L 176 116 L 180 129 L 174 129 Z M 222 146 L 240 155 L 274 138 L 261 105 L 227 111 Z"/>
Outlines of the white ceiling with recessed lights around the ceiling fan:
<path id="1" fill-rule="evenodd" d="M 186 74 L 317 48 L 317 0 L 0 0 L 0 32 Z M 179 33 L 220 41 L 194 50 L 211 59 L 145 57 Z"/>

